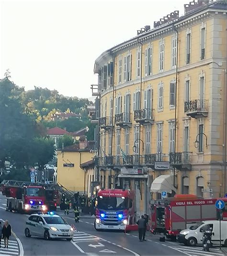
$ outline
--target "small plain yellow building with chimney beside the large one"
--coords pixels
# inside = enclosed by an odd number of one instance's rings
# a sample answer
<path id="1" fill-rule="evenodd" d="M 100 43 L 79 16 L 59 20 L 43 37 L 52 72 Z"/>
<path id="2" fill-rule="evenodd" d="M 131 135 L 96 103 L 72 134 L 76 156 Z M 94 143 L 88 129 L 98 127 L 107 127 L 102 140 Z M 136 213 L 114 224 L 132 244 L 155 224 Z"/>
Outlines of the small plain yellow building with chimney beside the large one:
<path id="1" fill-rule="evenodd" d="M 87 192 L 87 173 L 80 167 L 82 163 L 91 161 L 93 143 L 81 136 L 79 144 L 65 147 L 57 151 L 57 182 L 71 191 Z"/>

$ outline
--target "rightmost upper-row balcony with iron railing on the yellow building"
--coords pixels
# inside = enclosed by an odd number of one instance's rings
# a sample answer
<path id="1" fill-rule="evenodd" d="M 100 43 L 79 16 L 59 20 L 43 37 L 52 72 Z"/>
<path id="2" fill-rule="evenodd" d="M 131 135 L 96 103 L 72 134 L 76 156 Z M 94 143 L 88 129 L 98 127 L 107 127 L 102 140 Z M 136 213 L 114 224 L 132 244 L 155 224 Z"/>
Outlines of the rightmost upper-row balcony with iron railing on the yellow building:
<path id="1" fill-rule="evenodd" d="M 184 113 L 193 118 L 208 116 L 207 100 L 192 100 L 184 102 Z"/>

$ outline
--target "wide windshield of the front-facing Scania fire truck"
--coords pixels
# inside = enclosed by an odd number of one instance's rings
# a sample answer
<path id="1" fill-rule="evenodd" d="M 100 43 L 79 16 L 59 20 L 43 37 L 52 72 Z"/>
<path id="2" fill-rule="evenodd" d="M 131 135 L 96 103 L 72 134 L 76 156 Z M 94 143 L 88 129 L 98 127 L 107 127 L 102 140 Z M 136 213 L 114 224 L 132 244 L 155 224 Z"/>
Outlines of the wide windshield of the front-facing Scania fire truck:
<path id="1" fill-rule="evenodd" d="M 98 209 L 127 209 L 127 198 L 103 197 L 98 198 Z"/>

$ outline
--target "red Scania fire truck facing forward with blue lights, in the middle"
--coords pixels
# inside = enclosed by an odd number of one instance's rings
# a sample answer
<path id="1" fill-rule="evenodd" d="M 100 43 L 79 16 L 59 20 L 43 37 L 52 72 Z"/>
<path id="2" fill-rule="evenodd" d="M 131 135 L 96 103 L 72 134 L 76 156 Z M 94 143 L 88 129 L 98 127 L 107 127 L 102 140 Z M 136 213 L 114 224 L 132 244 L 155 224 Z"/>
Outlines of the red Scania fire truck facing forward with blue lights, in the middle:
<path id="1" fill-rule="evenodd" d="M 135 192 L 122 189 L 99 190 L 96 200 L 94 228 L 126 230 L 135 224 Z"/>

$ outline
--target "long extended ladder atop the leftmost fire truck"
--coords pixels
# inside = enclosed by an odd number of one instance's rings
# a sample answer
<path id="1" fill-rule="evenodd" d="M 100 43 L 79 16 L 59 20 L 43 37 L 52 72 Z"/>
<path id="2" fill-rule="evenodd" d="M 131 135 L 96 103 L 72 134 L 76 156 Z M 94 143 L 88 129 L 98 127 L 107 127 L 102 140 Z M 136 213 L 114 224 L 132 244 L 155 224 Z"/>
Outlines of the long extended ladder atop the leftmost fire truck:
<path id="1" fill-rule="evenodd" d="M 29 181 L 18 181 L 18 180 L 3 180 L 0 184 L 1 188 L 3 186 L 12 186 L 12 187 L 23 187 L 23 186 L 44 186 L 48 190 L 57 190 L 61 194 L 65 194 L 68 197 L 74 196 L 73 191 L 68 190 L 66 187 L 62 186 L 59 183 L 33 183 Z"/>

